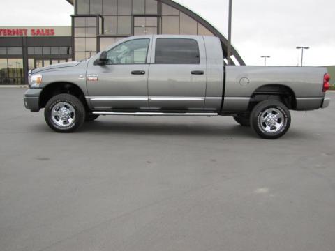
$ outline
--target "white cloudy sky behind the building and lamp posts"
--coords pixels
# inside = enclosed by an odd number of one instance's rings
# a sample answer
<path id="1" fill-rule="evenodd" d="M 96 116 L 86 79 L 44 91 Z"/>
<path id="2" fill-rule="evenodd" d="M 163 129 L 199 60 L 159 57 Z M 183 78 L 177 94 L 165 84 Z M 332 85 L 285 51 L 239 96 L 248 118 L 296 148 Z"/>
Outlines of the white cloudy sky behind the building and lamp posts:
<path id="1" fill-rule="evenodd" d="M 228 33 L 228 0 L 176 0 Z M 335 65 L 335 0 L 232 0 L 232 43 L 248 65 Z M 6 6 L 6 8 L 4 8 Z M 66 0 L 1 0 L 0 26 L 70 25 Z"/>

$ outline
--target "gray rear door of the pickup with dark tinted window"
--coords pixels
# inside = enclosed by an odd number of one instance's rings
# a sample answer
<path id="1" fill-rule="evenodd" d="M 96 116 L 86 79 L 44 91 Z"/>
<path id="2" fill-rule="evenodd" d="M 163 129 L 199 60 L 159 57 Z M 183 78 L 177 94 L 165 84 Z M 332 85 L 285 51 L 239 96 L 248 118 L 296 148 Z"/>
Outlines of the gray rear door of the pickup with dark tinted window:
<path id="1" fill-rule="evenodd" d="M 202 37 L 154 36 L 149 70 L 151 109 L 202 110 L 207 66 Z"/>

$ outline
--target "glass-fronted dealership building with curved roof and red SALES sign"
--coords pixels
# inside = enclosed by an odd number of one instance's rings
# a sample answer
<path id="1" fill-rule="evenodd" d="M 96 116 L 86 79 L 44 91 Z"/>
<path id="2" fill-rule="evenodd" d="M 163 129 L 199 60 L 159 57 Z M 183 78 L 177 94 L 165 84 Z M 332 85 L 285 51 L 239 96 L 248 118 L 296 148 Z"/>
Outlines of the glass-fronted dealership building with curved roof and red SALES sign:
<path id="1" fill-rule="evenodd" d="M 31 68 L 77 61 L 133 35 L 217 36 L 227 39 L 199 15 L 171 0 L 61 0 L 74 8 L 71 26 L 0 26 L 0 84 L 27 84 Z M 232 61 L 244 65 L 232 47 Z"/>

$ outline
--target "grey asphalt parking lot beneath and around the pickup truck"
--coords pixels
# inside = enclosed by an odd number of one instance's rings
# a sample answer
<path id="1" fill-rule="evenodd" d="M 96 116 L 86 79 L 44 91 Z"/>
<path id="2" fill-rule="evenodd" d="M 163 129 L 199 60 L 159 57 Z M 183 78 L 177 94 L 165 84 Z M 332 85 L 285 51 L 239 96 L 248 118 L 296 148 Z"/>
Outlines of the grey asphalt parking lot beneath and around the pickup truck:
<path id="1" fill-rule="evenodd" d="M 230 117 L 105 116 L 73 134 L 0 89 L 0 250 L 329 250 L 335 92 L 259 139 Z"/>

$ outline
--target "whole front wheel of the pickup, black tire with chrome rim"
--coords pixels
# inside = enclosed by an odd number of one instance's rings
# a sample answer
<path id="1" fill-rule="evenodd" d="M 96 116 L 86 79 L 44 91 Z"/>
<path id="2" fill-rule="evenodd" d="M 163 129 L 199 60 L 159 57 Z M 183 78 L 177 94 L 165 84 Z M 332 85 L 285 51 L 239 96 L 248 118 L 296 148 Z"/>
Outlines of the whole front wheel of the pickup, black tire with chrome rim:
<path id="1" fill-rule="evenodd" d="M 68 118 L 64 117 L 66 118 L 64 120 L 61 119 L 63 115 L 61 113 L 62 108 L 65 109 L 64 116 L 68 116 Z M 52 109 L 54 109 L 54 113 Z M 47 125 L 56 132 L 73 132 L 77 130 L 84 123 L 85 115 L 86 112 L 82 102 L 70 94 L 53 96 L 47 101 L 44 109 L 44 117 Z"/>

